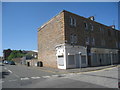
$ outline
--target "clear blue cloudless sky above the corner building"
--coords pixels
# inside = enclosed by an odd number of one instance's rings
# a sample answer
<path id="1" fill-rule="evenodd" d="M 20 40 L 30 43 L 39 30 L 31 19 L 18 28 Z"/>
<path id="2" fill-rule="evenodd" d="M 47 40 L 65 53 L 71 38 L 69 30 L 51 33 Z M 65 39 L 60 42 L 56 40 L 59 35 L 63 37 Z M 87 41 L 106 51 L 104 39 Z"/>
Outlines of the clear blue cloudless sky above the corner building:
<path id="1" fill-rule="evenodd" d="M 118 29 L 118 2 L 2 2 L 0 50 L 37 50 L 37 29 L 62 10 Z"/>

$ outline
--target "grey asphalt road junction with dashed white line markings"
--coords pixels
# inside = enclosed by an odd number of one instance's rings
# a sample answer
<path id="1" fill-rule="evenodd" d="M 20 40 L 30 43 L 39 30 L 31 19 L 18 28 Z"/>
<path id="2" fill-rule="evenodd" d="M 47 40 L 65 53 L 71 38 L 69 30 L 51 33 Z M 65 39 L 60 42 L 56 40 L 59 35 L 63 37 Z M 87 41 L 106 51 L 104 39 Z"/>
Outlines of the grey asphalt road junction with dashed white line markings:
<path id="1" fill-rule="evenodd" d="M 2 67 L 2 88 L 118 88 L 118 68 L 58 74 L 21 65 Z"/>

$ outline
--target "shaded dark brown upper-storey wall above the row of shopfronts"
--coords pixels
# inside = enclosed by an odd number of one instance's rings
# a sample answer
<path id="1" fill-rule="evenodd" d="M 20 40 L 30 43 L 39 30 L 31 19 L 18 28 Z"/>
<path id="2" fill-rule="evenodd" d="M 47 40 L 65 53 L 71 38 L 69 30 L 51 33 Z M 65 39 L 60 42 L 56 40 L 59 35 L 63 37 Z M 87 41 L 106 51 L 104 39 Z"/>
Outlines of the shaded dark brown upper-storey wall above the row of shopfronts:
<path id="1" fill-rule="evenodd" d="M 76 19 L 76 27 L 70 25 L 70 17 Z M 85 29 L 84 23 L 87 23 L 88 29 Z M 91 30 L 91 25 L 93 30 Z M 117 49 L 116 41 L 120 42 L 120 31 L 112 29 L 108 26 L 100 24 L 96 21 L 92 21 L 88 18 L 84 18 L 65 11 L 65 41 L 67 44 L 70 43 L 70 35 L 77 35 L 77 43 L 75 45 L 86 46 L 86 38 L 89 37 L 91 47 L 99 48 L 113 48 Z M 95 45 L 92 44 L 92 38 L 95 39 Z M 105 40 L 105 44 L 103 44 Z"/>

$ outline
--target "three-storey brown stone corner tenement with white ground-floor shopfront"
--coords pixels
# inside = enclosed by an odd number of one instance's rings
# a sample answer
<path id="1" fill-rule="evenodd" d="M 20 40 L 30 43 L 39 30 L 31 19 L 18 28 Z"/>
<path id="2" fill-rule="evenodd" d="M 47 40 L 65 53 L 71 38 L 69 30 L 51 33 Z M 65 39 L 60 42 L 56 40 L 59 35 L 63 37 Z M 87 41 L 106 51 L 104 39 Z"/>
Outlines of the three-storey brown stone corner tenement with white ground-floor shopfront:
<path id="1" fill-rule="evenodd" d="M 120 31 L 63 10 L 38 28 L 38 60 L 59 69 L 120 63 Z"/>

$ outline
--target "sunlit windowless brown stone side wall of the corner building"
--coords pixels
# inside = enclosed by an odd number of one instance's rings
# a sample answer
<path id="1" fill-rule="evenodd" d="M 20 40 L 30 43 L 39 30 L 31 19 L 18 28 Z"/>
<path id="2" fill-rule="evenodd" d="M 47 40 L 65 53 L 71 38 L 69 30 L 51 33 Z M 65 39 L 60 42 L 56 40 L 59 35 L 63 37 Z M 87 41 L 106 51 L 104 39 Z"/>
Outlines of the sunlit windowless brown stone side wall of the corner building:
<path id="1" fill-rule="evenodd" d="M 64 43 L 64 13 L 38 29 L 38 60 L 43 66 L 57 68 L 56 45 Z"/>

